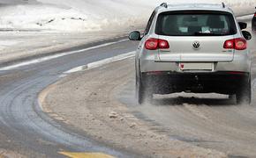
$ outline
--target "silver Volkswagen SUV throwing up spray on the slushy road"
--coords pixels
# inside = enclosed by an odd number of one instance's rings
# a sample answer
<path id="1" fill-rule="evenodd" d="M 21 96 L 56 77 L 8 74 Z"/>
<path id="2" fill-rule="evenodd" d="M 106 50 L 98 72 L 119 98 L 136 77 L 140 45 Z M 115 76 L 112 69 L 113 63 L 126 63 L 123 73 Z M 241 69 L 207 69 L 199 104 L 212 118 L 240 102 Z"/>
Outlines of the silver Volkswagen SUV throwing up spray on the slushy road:
<path id="1" fill-rule="evenodd" d="M 251 55 L 242 31 L 225 4 L 173 4 L 157 7 L 136 53 L 136 91 L 139 104 L 153 94 L 175 92 L 221 93 L 251 103 Z"/>

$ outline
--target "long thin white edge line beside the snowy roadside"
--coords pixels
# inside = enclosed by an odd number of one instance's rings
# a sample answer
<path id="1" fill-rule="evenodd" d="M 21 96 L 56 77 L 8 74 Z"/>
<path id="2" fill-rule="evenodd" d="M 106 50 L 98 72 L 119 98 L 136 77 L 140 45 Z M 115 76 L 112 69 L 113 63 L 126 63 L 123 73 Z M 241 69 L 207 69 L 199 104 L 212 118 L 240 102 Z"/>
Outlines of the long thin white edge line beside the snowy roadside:
<path id="1" fill-rule="evenodd" d="M 122 40 L 118 40 L 118 41 L 115 41 L 115 42 L 109 42 L 109 43 L 105 43 L 105 44 L 98 45 L 98 46 L 95 46 L 95 47 L 88 47 L 88 48 L 80 49 L 80 50 L 76 50 L 76 51 L 65 52 L 65 53 L 61 53 L 61 54 L 54 54 L 54 55 L 34 59 L 34 60 L 31 60 L 31 61 L 23 61 L 23 62 L 13 64 L 13 65 L 10 65 L 10 66 L 7 66 L 7 67 L 2 67 L 2 68 L 0 68 L 0 71 L 11 70 L 11 69 L 14 69 L 14 68 L 20 68 L 20 67 L 24 67 L 24 66 L 27 66 L 27 65 L 35 64 L 35 63 L 40 63 L 40 62 L 43 62 L 43 61 L 49 61 L 49 60 L 56 59 L 56 58 L 59 58 L 59 57 L 65 56 L 65 55 L 69 55 L 69 54 L 79 54 L 81 52 L 89 51 L 89 50 L 99 48 L 99 47 L 107 47 L 107 46 L 117 44 L 117 43 L 120 43 L 120 42 L 123 42 L 123 41 L 126 41 L 126 40 L 128 40 L 128 39 L 122 39 Z"/>

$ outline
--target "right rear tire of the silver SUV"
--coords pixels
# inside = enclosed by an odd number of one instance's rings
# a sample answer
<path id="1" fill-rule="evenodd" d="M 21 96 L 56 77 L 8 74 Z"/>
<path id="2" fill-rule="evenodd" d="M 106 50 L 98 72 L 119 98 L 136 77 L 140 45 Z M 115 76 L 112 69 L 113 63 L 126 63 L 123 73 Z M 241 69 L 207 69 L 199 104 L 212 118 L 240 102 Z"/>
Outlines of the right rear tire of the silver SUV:
<path id="1" fill-rule="evenodd" d="M 237 91 L 237 104 L 251 104 L 252 102 L 252 90 L 251 79 L 241 84 L 241 89 Z"/>

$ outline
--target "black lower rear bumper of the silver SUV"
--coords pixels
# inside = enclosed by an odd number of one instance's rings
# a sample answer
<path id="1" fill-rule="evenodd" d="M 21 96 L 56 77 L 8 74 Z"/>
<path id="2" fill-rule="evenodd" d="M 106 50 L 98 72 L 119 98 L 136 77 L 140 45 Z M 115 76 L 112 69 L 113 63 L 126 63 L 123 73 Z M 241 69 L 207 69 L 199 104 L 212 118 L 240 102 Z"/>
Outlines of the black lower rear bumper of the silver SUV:
<path id="1" fill-rule="evenodd" d="M 243 83 L 249 82 L 250 73 L 231 71 L 213 73 L 158 71 L 142 73 L 141 77 L 143 83 L 156 94 L 181 91 L 235 94 Z"/>

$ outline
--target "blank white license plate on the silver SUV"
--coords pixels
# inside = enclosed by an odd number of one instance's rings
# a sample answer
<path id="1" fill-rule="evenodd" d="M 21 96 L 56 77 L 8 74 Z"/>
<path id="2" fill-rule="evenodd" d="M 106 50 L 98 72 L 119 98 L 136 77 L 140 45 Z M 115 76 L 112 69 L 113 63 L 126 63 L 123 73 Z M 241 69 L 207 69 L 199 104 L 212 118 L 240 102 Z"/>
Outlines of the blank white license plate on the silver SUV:
<path id="1" fill-rule="evenodd" d="M 179 63 L 181 70 L 213 70 L 213 63 L 209 62 L 184 62 Z"/>

